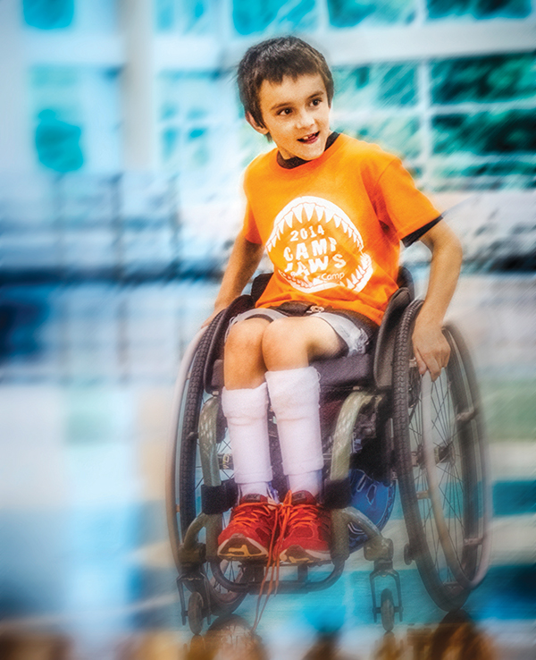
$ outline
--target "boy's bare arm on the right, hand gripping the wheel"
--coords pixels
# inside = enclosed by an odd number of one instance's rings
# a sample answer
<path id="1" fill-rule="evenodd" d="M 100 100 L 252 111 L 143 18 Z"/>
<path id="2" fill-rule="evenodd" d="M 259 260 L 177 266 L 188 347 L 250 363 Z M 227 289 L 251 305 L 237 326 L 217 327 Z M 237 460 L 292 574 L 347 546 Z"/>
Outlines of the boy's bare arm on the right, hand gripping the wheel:
<path id="1" fill-rule="evenodd" d="M 450 348 L 442 333 L 443 319 L 462 265 L 462 246 L 445 221 L 435 224 L 420 239 L 431 250 L 430 278 L 423 307 L 415 322 L 413 347 L 419 373 L 430 371 L 432 380 L 447 366 Z"/>

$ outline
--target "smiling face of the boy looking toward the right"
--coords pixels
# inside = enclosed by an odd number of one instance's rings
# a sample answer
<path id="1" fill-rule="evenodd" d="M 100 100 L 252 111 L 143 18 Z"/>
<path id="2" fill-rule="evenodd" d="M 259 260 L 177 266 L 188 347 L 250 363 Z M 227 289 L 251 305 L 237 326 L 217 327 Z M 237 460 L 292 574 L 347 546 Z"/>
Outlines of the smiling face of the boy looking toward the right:
<path id="1" fill-rule="evenodd" d="M 250 114 L 255 131 L 270 133 L 283 158 L 314 160 L 322 156 L 330 135 L 330 105 L 320 73 L 284 76 L 281 84 L 264 80 L 259 91 L 264 126 Z"/>

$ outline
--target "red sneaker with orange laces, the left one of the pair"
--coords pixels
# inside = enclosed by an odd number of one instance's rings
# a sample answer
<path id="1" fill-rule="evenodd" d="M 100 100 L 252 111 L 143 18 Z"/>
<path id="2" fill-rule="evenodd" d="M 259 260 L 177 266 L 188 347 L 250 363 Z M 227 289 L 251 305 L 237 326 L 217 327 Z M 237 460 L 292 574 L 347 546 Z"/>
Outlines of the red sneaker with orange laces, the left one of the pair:
<path id="1" fill-rule="evenodd" d="M 264 495 L 244 495 L 218 537 L 218 556 L 229 560 L 268 559 L 278 506 Z"/>

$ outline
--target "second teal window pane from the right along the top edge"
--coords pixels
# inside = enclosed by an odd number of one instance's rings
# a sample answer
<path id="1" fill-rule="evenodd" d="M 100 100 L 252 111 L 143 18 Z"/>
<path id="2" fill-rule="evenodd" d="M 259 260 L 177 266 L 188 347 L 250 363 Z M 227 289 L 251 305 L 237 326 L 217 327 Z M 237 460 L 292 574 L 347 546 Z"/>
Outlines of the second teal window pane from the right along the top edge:
<path id="1" fill-rule="evenodd" d="M 363 21 L 406 23 L 415 18 L 415 3 L 407 0 L 327 0 L 334 28 L 353 28 Z"/>

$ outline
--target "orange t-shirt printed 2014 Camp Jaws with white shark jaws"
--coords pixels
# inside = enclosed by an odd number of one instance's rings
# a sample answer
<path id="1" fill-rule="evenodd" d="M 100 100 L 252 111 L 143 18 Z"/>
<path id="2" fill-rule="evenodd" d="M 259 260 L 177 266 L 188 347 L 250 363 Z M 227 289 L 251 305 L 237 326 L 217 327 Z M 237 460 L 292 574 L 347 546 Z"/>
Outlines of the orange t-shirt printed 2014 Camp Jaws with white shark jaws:
<path id="1" fill-rule="evenodd" d="M 304 300 L 380 323 L 397 290 L 400 241 L 440 216 L 397 157 L 347 135 L 293 169 L 277 149 L 248 165 L 244 237 L 274 275 L 257 307 Z"/>

